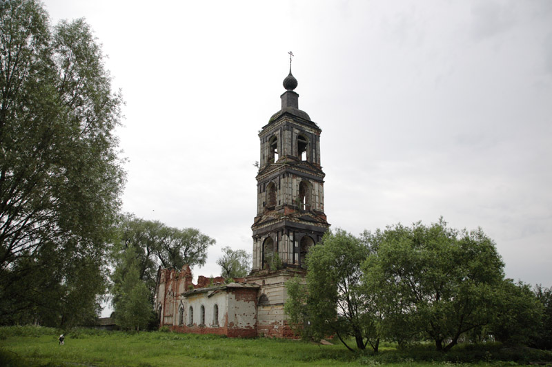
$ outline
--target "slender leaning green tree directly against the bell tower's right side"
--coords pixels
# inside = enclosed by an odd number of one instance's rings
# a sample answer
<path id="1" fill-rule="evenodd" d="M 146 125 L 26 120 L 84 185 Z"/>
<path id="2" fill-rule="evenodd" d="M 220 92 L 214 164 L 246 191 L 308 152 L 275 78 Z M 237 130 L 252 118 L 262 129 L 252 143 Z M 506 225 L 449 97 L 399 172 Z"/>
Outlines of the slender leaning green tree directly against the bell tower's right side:
<path id="1" fill-rule="evenodd" d="M 322 244 L 312 247 L 307 255 L 306 308 L 301 299 L 293 298 L 304 297 L 300 285 L 288 284 L 292 300 L 286 312 L 292 322 L 301 322 L 304 317 L 303 323 L 311 323 L 308 335 L 322 338 L 335 333 L 351 351 L 354 349 L 349 345 L 349 337 L 356 348 L 365 349 L 370 344 L 377 351 L 380 343 L 377 313 L 360 288 L 361 266 L 370 252 L 351 233 L 340 229 L 326 233 Z"/>

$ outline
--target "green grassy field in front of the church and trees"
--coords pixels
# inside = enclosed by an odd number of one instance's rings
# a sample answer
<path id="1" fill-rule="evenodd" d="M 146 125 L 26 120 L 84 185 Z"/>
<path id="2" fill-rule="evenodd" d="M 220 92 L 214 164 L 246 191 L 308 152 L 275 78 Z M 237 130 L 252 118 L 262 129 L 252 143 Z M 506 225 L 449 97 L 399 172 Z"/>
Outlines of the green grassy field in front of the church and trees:
<path id="1" fill-rule="evenodd" d="M 124 333 L 81 329 L 68 333 L 32 326 L 0 328 L 0 366 L 512 366 L 552 361 L 552 353 L 466 346 L 453 353 L 429 347 L 378 355 L 351 353 L 341 344 L 279 339 L 230 339 L 177 333 Z M 505 359 L 505 360 L 497 360 Z"/>

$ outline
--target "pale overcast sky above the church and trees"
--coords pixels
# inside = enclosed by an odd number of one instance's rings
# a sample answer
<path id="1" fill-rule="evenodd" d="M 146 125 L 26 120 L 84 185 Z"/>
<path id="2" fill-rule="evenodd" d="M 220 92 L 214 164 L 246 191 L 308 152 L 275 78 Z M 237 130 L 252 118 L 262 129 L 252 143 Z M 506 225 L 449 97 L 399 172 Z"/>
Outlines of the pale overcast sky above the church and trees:
<path id="1" fill-rule="evenodd" d="M 291 50 L 333 228 L 443 216 L 552 286 L 552 1 L 44 3 L 86 18 L 124 94 L 124 211 L 217 240 L 195 275 L 253 249 L 257 134 Z"/>

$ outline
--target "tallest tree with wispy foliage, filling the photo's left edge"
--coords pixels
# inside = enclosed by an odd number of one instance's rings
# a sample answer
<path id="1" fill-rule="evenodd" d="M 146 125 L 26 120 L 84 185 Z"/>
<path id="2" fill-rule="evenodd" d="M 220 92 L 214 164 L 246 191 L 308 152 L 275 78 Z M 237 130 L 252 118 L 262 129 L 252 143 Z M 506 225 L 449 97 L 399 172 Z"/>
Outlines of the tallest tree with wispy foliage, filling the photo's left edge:
<path id="1" fill-rule="evenodd" d="M 121 96 L 82 19 L 52 30 L 39 2 L 1 1 L 0 40 L 0 319 L 74 319 L 46 315 L 94 309 L 103 289 Z M 81 291 L 86 302 L 70 296 Z"/>

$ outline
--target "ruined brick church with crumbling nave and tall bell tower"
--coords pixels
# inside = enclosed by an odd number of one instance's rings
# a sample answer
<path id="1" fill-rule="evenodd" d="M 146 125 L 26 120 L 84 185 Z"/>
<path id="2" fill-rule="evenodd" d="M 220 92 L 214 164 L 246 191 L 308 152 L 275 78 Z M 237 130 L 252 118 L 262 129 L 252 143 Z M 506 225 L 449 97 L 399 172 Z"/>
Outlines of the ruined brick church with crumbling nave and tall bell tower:
<path id="1" fill-rule="evenodd" d="M 299 109 L 297 79 L 284 79 L 282 108 L 259 132 L 257 216 L 250 274 L 226 284 L 200 276 L 189 266 L 159 269 L 155 307 L 160 327 L 182 333 L 228 337 L 292 337 L 284 314 L 285 283 L 306 274 L 308 248 L 330 224 L 324 213 L 322 130 Z"/>

